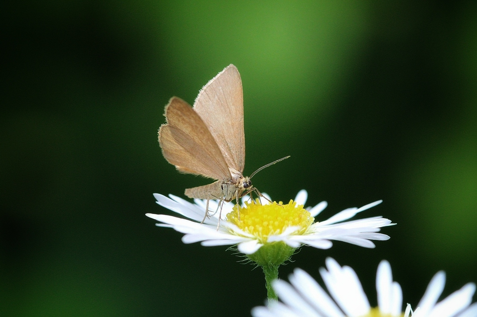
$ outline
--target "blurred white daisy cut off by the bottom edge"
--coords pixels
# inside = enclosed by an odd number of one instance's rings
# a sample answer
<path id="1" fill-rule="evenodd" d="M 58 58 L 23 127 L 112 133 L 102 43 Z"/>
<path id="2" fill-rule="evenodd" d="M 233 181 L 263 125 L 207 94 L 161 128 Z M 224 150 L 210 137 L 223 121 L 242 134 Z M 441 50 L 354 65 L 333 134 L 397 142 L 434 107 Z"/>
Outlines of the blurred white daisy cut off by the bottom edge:
<path id="1" fill-rule="evenodd" d="M 393 281 L 391 266 L 383 260 L 376 274 L 378 307 L 371 307 L 363 287 L 351 267 L 341 267 L 334 259 L 326 259 L 321 277 L 331 297 L 305 271 L 297 268 L 290 275 L 290 284 L 275 280 L 272 286 L 281 302 L 270 301 L 268 307 L 252 309 L 253 317 L 476 317 L 477 303 L 470 305 L 476 286 L 467 283 L 439 303 L 446 275 L 438 272 L 413 312 L 410 305 L 402 311 L 401 287 Z M 411 315 L 410 315 L 411 314 Z"/>

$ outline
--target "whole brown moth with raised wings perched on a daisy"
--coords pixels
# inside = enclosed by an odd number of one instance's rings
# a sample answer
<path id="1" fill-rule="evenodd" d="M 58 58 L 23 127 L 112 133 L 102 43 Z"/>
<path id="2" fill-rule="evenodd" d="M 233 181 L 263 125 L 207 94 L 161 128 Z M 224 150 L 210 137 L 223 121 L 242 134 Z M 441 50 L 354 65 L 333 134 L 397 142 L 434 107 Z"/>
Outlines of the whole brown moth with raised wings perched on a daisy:
<path id="1" fill-rule="evenodd" d="M 177 170 L 217 179 L 212 184 L 187 188 L 189 198 L 231 201 L 256 191 L 244 177 L 245 134 L 243 92 L 239 70 L 228 65 L 199 92 L 194 107 L 172 97 L 166 105 L 166 124 L 159 129 L 159 144 L 166 160 Z M 288 157 L 286 157 L 288 158 Z M 263 197 L 263 196 L 262 196 Z M 204 217 L 204 219 L 205 219 Z"/>

